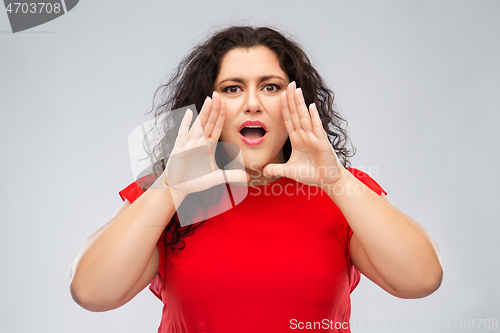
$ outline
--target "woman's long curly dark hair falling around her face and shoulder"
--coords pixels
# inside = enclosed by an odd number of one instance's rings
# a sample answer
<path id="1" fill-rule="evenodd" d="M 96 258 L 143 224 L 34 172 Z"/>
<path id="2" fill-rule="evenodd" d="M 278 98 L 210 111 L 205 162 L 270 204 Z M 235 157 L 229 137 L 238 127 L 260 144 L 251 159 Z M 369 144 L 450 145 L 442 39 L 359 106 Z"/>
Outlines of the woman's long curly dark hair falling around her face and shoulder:
<path id="1" fill-rule="evenodd" d="M 306 105 L 316 103 L 330 144 L 342 165 L 345 168 L 350 167 L 349 158 L 354 156 L 356 150 L 352 144 L 352 153 L 347 148 L 350 143 L 344 129 L 347 121 L 335 109 L 333 92 L 327 88 L 302 48 L 291 38 L 268 27 L 231 26 L 213 33 L 204 43 L 196 46 L 181 61 L 170 80 L 156 90 L 150 113 L 154 114 L 155 127 L 161 129 L 163 137 L 151 152 L 156 162 L 149 170 L 149 174 L 154 176 L 147 177 L 149 181 L 143 181 L 139 186 L 146 190 L 165 169 L 175 142 L 174 136 L 177 135 L 171 111 L 194 104 L 199 112 L 205 98 L 211 96 L 214 90 L 224 55 L 235 48 L 248 49 L 256 46 L 267 47 L 276 54 L 281 68 L 290 81 L 295 81 L 297 87 L 302 88 Z M 285 161 L 290 158 L 291 151 L 288 139 L 283 146 Z M 209 190 L 190 195 L 197 195 L 201 206 L 217 201 L 213 200 L 214 195 Z M 220 198 L 220 195 L 215 197 Z M 185 244 L 182 237 L 191 235 L 199 225 L 201 223 L 181 227 L 178 217 L 174 215 L 165 229 L 166 245 L 171 249 L 183 248 Z"/>

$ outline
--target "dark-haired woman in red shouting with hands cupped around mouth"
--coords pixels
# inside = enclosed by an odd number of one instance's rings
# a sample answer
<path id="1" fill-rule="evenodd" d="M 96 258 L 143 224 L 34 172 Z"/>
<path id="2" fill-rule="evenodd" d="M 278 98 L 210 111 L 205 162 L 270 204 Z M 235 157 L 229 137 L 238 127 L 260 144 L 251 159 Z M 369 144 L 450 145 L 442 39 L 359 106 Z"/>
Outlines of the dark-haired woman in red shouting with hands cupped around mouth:
<path id="1" fill-rule="evenodd" d="M 157 118 L 194 102 L 198 122 L 189 129 L 186 111 L 174 146 L 155 149 L 160 176 L 121 191 L 116 216 L 75 256 L 78 304 L 111 310 L 150 284 L 164 303 L 159 332 L 350 332 L 360 273 L 402 298 L 439 287 L 436 243 L 349 168 L 333 94 L 297 44 L 269 28 L 231 27 L 163 88 Z M 221 169 L 213 155 L 231 154 L 210 149 L 217 142 L 239 148 L 244 171 Z M 197 149 L 211 165 L 193 178 Z M 248 188 L 226 185 L 242 182 Z M 188 207 L 191 224 L 181 227 L 176 211 L 193 195 L 201 213 Z M 209 218 L 193 224 L 197 216 Z"/>

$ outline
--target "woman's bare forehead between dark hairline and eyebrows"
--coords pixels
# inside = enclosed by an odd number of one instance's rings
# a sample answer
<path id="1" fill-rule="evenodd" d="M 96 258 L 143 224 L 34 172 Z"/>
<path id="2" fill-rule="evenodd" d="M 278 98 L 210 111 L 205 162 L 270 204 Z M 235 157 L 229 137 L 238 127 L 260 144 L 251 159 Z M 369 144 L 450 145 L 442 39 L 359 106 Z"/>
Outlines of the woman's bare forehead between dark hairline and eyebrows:
<path id="1" fill-rule="evenodd" d="M 266 75 L 288 77 L 281 69 L 276 54 L 264 46 L 249 49 L 236 48 L 229 51 L 221 61 L 218 79 L 226 77 L 252 78 Z"/>

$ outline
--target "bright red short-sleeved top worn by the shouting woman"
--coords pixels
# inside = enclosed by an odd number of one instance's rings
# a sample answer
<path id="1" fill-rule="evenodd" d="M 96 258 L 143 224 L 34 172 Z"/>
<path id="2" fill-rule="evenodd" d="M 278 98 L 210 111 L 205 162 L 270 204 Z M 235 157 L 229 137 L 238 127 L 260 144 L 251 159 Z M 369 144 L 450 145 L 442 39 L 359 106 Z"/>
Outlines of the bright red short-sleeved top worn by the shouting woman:
<path id="1" fill-rule="evenodd" d="M 366 173 L 349 171 L 387 194 Z M 317 187 L 285 177 L 248 190 L 185 237 L 184 249 L 158 241 L 159 272 L 149 287 L 164 303 L 158 332 L 350 332 L 360 272 L 340 209 Z M 135 183 L 120 192 L 130 202 L 141 194 Z"/>

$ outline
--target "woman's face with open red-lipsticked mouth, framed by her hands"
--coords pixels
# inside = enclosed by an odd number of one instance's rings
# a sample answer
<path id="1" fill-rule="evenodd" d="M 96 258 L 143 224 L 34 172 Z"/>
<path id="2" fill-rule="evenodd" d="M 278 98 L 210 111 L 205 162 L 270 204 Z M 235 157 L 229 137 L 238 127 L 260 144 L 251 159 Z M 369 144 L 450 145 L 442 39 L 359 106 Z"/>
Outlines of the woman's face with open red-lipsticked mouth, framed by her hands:
<path id="1" fill-rule="evenodd" d="M 280 95 L 288 83 L 278 58 L 264 46 L 236 48 L 222 58 L 214 84 L 226 102 L 220 141 L 237 144 L 245 168 L 257 178 L 267 164 L 283 162 L 288 132 Z"/>

